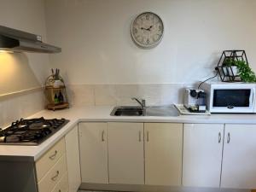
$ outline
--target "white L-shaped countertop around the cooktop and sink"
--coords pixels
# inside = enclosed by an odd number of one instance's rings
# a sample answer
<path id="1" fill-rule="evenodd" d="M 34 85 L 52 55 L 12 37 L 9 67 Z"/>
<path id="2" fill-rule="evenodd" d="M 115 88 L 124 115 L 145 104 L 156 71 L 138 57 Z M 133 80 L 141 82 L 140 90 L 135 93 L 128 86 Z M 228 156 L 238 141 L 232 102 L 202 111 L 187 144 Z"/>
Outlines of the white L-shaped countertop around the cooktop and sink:
<path id="1" fill-rule="evenodd" d="M 220 124 L 256 124 L 256 114 L 211 114 L 211 115 L 180 115 L 177 117 L 113 117 L 110 116 L 113 106 L 69 108 L 61 111 L 43 110 L 28 117 L 45 119 L 69 119 L 70 122 L 38 146 L 0 145 L 0 160 L 31 160 L 40 158 L 74 125 L 82 121 L 125 121 L 125 122 L 178 122 L 178 123 L 220 123 Z"/>

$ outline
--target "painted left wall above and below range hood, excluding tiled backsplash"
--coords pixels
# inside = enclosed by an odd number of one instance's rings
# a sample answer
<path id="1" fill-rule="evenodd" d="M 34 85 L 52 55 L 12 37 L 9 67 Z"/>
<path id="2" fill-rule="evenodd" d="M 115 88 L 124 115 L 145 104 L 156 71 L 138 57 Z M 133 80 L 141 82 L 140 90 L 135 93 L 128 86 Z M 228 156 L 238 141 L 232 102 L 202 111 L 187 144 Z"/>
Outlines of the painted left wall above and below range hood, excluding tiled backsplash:
<path id="1" fill-rule="evenodd" d="M 0 0 L 0 25 L 40 34 L 46 41 L 44 0 Z M 0 53 L 0 95 L 44 84 L 49 55 Z"/>

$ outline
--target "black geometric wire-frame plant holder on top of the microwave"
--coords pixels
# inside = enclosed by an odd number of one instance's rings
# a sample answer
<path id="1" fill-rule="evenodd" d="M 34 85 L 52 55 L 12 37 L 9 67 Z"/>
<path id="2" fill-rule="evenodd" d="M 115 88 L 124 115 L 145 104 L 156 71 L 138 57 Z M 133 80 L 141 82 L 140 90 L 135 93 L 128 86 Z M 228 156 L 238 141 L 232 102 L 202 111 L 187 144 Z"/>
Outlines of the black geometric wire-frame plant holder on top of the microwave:
<path id="1" fill-rule="evenodd" d="M 248 63 L 245 50 L 224 50 L 216 67 L 221 81 L 240 82 L 241 77 L 237 67 L 226 65 L 227 61 L 245 61 Z"/>

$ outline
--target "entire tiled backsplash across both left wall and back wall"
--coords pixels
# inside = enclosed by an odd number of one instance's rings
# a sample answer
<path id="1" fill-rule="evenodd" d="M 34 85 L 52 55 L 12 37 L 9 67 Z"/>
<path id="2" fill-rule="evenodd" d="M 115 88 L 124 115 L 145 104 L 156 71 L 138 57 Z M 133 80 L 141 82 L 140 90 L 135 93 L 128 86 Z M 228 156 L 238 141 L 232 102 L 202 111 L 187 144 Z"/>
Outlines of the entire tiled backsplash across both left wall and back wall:
<path id="1" fill-rule="evenodd" d="M 146 99 L 147 105 L 183 102 L 183 88 L 192 84 L 70 84 L 68 99 L 72 107 L 99 105 L 137 105 L 131 97 Z M 0 98 L 0 127 L 44 109 L 44 91 L 35 90 Z"/>

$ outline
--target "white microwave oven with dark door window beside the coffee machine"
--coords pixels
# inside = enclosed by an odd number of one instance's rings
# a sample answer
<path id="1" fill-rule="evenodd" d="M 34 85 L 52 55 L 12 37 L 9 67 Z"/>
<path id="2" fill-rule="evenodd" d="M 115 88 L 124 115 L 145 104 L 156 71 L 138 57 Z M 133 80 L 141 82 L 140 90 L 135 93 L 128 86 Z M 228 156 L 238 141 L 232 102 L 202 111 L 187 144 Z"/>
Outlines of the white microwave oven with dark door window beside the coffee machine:
<path id="1" fill-rule="evenodd" d="M 210 113 L 256 113 L 256 84 L 212 82 L 201 88 Z"/>

